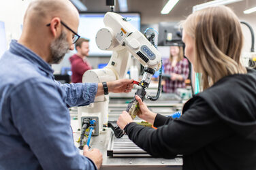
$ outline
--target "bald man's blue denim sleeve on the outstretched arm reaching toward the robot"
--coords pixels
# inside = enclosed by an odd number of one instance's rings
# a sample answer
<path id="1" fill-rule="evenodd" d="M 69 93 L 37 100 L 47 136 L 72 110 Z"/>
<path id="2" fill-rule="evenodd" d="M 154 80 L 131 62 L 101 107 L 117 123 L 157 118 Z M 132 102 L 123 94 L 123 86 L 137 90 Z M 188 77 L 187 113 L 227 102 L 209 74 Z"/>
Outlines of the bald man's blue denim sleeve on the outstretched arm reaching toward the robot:
<path id="1" fill-rule="evenodd" d="M 93 103 L 97 93 L 98 84 L 96 83 L 71 83 L 61 84 L 54 80 L 64 92 L 65 103 L 68 107 L 89 105 Z"/>

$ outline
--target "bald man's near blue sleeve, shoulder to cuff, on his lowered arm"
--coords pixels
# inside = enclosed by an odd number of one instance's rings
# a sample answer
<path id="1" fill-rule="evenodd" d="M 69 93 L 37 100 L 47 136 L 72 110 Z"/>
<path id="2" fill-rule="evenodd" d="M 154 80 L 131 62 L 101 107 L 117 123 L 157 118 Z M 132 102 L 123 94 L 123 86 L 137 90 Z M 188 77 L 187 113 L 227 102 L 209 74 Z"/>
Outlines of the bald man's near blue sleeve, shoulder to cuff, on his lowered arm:
<path id="1" fill-rule="evenodd" d="M 54 82 L 22 82 L 10 94 L 14 126 L 43 169 L 97 169 L 74 146 L 63 96 Z"/>

